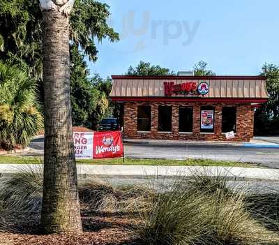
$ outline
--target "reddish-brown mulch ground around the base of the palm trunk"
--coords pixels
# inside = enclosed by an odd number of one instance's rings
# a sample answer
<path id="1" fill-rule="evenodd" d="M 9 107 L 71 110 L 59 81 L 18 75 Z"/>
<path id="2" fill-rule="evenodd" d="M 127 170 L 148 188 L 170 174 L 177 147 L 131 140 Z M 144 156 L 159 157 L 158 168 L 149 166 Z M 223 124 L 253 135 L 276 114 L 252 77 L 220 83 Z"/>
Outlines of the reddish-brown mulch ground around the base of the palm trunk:
<path id="1" fill-rule="evenodd" d="M 120 214 L 82 214 L 82 235 L 38 235 L 36 225 L 25 224 L 17 232 L 0 232 L 2 245 L 126 245 L 134 244 L 128 231 L 131 219 Z M 18 231 L 20 230 L 20 231 Z"/>

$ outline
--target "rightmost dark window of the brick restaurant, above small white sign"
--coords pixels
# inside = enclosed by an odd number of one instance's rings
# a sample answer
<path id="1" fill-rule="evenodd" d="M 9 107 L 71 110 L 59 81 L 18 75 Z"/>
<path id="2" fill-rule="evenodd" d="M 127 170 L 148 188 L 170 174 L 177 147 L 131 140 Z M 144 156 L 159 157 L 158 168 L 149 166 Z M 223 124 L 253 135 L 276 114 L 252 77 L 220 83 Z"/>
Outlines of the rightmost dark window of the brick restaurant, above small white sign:
<path id="1" fill-rule="evenodd" d="M 222 108 L 222 132 L 236 132 L 236 107 Z"/>

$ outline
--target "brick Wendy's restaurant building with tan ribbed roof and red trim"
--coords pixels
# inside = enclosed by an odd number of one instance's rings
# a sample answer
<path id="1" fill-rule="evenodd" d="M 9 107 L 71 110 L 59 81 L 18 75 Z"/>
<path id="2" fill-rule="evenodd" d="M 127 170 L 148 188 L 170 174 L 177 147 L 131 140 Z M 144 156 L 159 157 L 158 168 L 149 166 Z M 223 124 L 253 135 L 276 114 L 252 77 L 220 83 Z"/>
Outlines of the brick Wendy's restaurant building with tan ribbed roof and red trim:
<path id="1" fill-rule="evenodd" d="M 261 76 L 112 75 L 110 97 L 122 105 L 123 138 L 246 141 L 255 107 L 267 101 Z M 234 133 L 232 133 L 232 131 Z"/>

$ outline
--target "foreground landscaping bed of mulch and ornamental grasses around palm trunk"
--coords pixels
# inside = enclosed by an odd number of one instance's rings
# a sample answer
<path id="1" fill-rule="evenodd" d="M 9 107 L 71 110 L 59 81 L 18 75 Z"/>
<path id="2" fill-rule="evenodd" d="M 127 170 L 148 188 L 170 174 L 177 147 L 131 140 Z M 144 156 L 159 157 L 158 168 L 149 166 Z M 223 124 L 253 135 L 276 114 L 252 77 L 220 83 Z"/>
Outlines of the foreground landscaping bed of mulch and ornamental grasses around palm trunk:
<path id="1" fill-rule="evenodd" d="M 82 235 L 40 235 L 41 173 L 26 167 L 0 182 L 0 244 L 279 244 L 279 195 L 236 191 L 223 177 L 142 186 L 82 179 Z"/>

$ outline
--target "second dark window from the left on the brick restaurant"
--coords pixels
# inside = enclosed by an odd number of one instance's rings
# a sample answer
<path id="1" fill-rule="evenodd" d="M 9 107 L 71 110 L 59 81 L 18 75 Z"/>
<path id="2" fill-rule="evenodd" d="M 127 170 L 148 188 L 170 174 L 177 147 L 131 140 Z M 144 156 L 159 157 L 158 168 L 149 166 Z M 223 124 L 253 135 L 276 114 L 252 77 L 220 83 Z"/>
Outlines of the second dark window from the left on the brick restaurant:
<path id="1" fill-rule="evenodd" d="M 158 131 L 172 132 L 172 106 L 159 105 L 159 107 L 158 107 Z"/>

